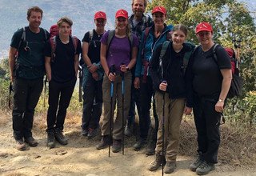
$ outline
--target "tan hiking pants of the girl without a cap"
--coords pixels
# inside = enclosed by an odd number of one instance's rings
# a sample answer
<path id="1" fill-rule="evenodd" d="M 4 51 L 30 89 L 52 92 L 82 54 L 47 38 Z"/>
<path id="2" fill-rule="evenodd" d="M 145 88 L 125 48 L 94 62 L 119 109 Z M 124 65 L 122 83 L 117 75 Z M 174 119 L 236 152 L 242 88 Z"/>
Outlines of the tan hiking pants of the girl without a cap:
<path id="1" fill-rule="evenodd" d="M 156 91 L 155 102 L 157 107 L 157 114 L 159 119 L 158 141 L 156 146 L 156 153 L 162 153 L 162 106 L 163 94 Z M 168 93 L 165 93 L 165 116 L 164 116 L 164 152 L 166 154 L 166 161 L 176 161 L 178 154 L 180 125 L 182 115 L 185 107 L 185 98 L 170 99 Z"/>

